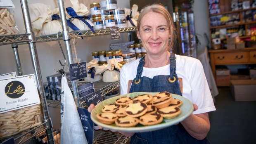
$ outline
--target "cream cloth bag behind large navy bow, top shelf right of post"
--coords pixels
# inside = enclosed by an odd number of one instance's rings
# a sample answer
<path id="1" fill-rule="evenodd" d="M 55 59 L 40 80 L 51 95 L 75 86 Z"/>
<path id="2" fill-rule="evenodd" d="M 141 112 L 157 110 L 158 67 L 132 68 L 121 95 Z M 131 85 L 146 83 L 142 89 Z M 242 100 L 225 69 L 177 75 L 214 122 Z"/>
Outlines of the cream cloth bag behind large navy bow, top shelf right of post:
<path id="1" fill-rule="evenodd" d="M 76 12 L 78 16 L 87 16 L 90 13 L 88 8 L 84 4 L 79 3 L 78 0 L 70 0 L 70 2 L 72 4 L 73 10 Z M 72 18 L 72 16 L 69 15 L 68 12 L 66 12 L 66 18 L 70 19 Z M 79 28 L 80 31 L 90 30 L 88 25 L 86 25 L 83 21 L 79 19 L 71 19 L 71 23 L 73 23 L 77 28 Z M 91 26 L 94 26 L 91 22 L 89 24 Z M 74 30 L 69 27 L 69 31 L 74 31 Z"/>

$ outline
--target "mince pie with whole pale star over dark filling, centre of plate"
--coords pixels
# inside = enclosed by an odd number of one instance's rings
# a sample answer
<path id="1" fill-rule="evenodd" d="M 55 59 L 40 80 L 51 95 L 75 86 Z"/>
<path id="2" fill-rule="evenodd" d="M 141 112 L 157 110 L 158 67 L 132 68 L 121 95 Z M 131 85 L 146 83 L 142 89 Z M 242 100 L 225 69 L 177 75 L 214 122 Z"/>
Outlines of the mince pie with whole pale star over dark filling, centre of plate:
<path id="1" fill-rule="evenodd" d="M 147 104 L 143 102 L 133 102 L 126 107 L 126 115 L 137 118 L 147 112 Z"/>

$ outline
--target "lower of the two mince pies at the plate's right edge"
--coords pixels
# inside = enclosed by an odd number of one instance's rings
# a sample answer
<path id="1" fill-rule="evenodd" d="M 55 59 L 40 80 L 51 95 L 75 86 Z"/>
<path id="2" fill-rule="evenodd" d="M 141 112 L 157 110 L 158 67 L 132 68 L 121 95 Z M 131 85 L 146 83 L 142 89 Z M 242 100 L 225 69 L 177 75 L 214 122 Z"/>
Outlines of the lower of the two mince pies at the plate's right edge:
<path id="1" fill-rule="evenodd" d="M 168 106 L 162 109 L 158 109 L 157 113 L 166 119 L 171 119 L 177 117 L 180 114 L 180 108 L 178 106 Z"/>

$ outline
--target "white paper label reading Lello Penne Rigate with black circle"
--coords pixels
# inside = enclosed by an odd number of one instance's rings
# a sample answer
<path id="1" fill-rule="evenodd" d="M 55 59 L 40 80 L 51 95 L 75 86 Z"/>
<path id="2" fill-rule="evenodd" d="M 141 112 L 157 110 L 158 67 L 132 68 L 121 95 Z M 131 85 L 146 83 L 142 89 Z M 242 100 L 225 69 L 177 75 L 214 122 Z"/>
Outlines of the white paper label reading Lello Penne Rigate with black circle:
<path id="1" fill-rule="evenodd" d="M 0 80 L 0 113 L 40 104 L 34 75 Z"/>

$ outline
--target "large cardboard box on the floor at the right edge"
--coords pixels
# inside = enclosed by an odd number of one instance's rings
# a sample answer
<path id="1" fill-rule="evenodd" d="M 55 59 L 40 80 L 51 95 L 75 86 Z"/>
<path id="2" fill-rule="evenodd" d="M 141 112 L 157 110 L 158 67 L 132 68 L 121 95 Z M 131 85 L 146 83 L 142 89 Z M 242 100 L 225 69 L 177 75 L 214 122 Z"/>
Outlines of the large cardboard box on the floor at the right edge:
<path id="1" fill-rule="evenodd" d="M 256 102 L 256 80 L 231 80 L 230 83 L 236 102 Z"/>

